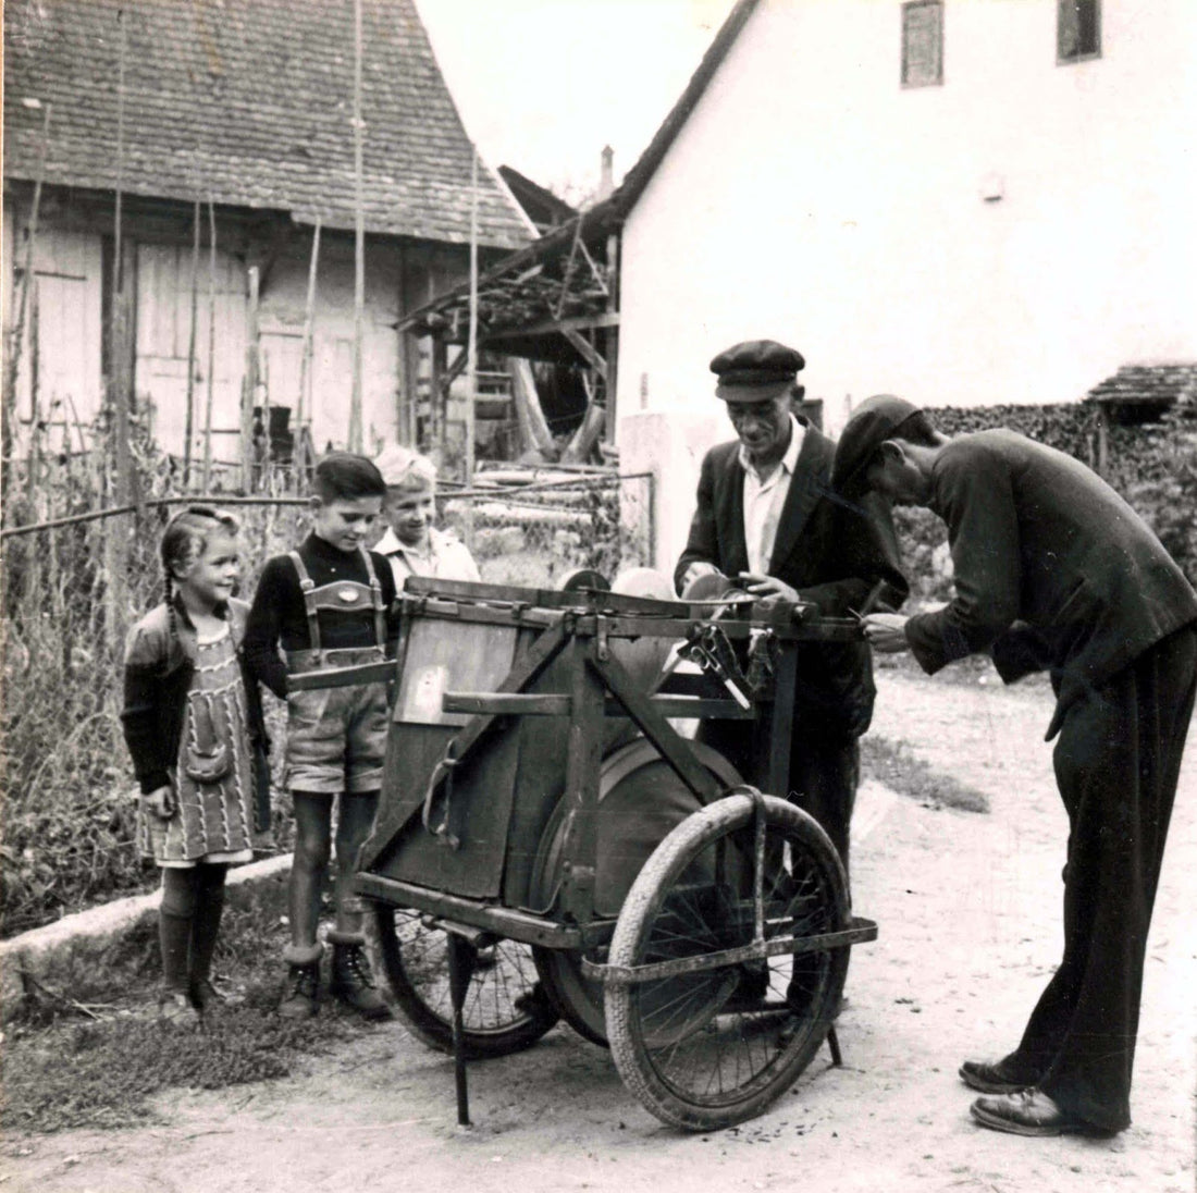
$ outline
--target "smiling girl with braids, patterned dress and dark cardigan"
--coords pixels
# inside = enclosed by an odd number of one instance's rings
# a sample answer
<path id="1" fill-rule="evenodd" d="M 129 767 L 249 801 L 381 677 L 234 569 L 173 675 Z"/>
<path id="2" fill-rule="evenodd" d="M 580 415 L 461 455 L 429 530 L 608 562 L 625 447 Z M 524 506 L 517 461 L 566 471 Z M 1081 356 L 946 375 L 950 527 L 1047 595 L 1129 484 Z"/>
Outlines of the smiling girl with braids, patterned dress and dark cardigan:
<path id="1" fill-rule="evenodd" d="M 237 523 L 192 505 L 170 520 L 166 599 L 129 632 L 124 740 L 141 788 L 138 841 L 162 867 L 163 1019 L 196 1025 L 218 1006 L 212 955 L 225 873 L 253 858 L 269 822 L 267 739 L 243 670 L 249 606 L 233 599 Z"/>

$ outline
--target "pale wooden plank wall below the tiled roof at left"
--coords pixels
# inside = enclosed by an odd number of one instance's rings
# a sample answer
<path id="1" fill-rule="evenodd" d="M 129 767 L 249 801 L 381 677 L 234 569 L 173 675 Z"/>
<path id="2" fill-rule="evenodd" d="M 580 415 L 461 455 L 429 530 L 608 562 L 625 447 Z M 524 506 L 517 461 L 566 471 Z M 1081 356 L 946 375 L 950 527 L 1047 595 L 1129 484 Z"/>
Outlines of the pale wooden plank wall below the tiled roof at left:
<path id="1" fill-rule="evenodd" d="M 22 202 L 22 199 L 25 199 Z M 24 262 L 26 196 L 5 205 L 5 319 L 14 319 L 14 279 Z M 110 218 L 107 224 L 110 229 Z M 205 223 L 206 229 L 206 223 Z M 132 277 L 135 326 L 134 387 L 139 413 L 157 443 L 182 455 L 187 420 L 187 362 L 192 337 L 190 210 L 123 230 Z M 202 455 L 208 390 L 208 248 L 200 253 L 196 287 L 195 376 L 193 382 L 193 455 Z M 248 267 L 261 271 L 259 299 L 260 375 L 271 406 L 297 417 L 300 401 L 303 335 L 306 313 L 311 230 L 293 228 L 279 243 L 247 235 L 244 219 L 217 213 L 217 285 L 213 353 L 213 458 L 236 462 L 241 426 L 241 390 L 245 373 Z M 36 319 L 26 315 L 19 376 L 19 416 L 31 413 L 31 377 L 37 370 L 42 417 L 61 441 L 74 440 L 99 413 L 103 395 L 105 255 L 111 236 L 104 212 L 86 211 L 69 195 L 50 195 L 43 205 L 35 252 Z M 408 395 L 429 375 L 426 340 L 401 335 L 401 315 L 466 277 L 464 248 L 366 241 L 363 428 L 365 449 L 395 440 L 409 441 L 414 429 Z M 16 265 L 16 271 L 13 266 Z M 326 231 L 317 262 L 312 323 L 310 420 L 317 450 L 347 446 L 353 386 L 353 237 Z M 110 261 L 108 262 L 110 272 Z M 30 333 L 36 329 L 37 351 Z"/>

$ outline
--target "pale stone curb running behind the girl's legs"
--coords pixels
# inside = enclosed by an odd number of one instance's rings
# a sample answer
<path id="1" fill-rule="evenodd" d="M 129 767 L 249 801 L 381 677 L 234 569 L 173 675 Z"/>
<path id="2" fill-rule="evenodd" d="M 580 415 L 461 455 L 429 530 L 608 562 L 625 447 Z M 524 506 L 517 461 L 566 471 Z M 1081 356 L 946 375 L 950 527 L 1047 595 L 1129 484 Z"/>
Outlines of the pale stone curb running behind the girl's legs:
<path id="1" fill-rule="evenodd" d="M 231 868 L 225 888 L 229 904 L 278 897 L 281 906 L 291 858 L 280 854 Z M 114 900 L 0 941 L 0 1021 L 11 1019 L 26 998 L 24 975 L 69 997 L 77 985 L 93 985 L 102 968 L 117 964 L 122 949 L 127 961 L 129 938 L 142 926 L 150 928 L 162 892 L 153 891 Z"/>

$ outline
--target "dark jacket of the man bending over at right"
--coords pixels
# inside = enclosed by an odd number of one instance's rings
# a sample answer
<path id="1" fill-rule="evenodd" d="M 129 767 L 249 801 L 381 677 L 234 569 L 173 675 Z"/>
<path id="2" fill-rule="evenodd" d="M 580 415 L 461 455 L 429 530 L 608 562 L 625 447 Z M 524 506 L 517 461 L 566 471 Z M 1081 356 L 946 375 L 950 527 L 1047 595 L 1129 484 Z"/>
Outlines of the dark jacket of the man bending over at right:
<path id="1" fill-rule="evenodd" d="M 955 596 L 906 623 L 911 650 L 932 674 L 976 650 L 1007 683 L 1049 670 L 1049 739 L 1076 700 L 1197 619 L 1193 589 L 1143 520 L 1063 452 L 1007 430 L 959 435 L 931 482 Z"/>

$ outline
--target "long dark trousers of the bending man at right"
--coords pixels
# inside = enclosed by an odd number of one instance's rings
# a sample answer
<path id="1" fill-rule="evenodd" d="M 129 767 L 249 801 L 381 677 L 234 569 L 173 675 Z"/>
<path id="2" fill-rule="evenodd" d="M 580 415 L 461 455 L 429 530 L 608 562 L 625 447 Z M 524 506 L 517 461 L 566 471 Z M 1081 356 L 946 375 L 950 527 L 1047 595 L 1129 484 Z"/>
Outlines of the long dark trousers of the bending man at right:
<path id="1" fill-rule="evenodd" d="M 1190 625 L 1076 701 L 1053 755 L 1069 819 L 1064 959 L 1007 1060 L 1110 1131 L 1130 1124 L 1147 933 L 1195 686 Z"/>

